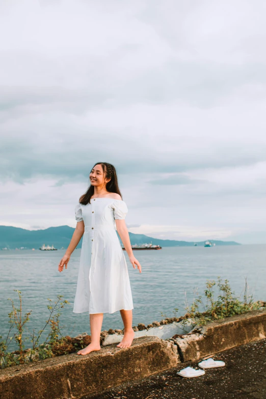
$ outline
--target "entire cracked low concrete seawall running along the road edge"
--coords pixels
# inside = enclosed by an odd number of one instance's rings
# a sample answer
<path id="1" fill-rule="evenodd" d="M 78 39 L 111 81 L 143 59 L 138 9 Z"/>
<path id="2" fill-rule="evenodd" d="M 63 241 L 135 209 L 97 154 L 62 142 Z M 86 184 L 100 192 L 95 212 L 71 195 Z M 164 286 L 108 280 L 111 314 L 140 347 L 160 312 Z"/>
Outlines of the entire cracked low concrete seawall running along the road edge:
<path id="1" fill-rule="evenodd" d="M 127 349 L 113 343 L 86 356 L 71 353 L 12 366 L 0 371 L 0 398 L 75 399 L 265 336 L 266 310 L 257 310 L 208 323 L 182 337 L 146 336 L 134 339 Z"/>

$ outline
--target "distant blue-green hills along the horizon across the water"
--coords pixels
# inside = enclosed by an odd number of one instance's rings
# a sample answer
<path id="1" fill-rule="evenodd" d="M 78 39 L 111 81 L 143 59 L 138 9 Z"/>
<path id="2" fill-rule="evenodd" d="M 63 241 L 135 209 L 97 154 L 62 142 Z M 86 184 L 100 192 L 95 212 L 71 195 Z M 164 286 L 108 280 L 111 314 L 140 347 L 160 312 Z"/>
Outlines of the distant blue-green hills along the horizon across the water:
<path id="1" fill-rule="evenodd" d="M 74 228 L 69 226 L 49 227 L 45 230 L 26 230 L 19 227 L 0 226 L 0 250 L 5 247 L 9 249 L 20 247 L 39 249 L 42 244 L 54 244 L 54 247 L 59 249 L 62 247 L 67 248 L 73 231 Z M 144 234 L 134 233 L 129 233 L 129 237 L 132 245 L 150 243 L 152 241 L 152 244 L 161 245 L 162 247 L 192 247 L 195 243 L 188 241 L 159 240 Z M 204 246 L 205 241 L 197 242 L 198 246 Z M 241 245 L 234 241 L 211 240 L 211 242 L 216 245 Z M 77 245 L 77 248 L 81 248 L 81 246 L 82 239 Z"/>

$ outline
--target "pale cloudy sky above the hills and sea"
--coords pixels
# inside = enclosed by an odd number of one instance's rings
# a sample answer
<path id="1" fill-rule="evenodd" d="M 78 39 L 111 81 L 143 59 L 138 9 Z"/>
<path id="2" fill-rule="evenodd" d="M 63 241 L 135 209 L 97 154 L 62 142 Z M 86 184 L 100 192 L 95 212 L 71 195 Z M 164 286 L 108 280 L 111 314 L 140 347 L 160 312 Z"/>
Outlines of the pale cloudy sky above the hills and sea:
<path id="1" fill-rule="evenodd" d="M 266 243 L 263 0 L 0 0 L 0 225 L 75 226 L 95 162 L 129 231 Z"/>

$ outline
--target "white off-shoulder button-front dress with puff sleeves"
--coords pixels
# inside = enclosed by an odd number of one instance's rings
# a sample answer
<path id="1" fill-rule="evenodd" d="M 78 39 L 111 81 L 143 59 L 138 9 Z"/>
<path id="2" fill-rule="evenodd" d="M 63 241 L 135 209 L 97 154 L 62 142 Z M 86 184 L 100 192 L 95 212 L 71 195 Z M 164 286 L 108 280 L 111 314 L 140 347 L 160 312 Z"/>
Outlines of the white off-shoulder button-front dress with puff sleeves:
<path id="1" fill-rule="evenodd" d="M 126 203 L 91 198 L 75 206 L 75 219 L 84 221 L 74 313 L 114 313 L 133 309 L 127 264 L 115 219 L 125 219 Z"/>

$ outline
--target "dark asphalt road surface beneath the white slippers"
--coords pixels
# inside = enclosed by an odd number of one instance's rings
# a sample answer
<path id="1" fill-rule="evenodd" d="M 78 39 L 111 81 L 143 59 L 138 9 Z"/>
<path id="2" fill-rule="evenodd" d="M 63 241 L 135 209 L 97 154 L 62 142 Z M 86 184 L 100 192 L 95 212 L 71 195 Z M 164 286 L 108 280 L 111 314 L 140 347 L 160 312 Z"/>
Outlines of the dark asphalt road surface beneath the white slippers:
<path id="1" fill-rule="evenodd" d="M 83 399 L 266 399 L 266 339 L 261 339 L 212 356 L 224 367 L 205 370 L 204 376 L 183 378 L 176 371 L 198 362 L 126 383 Z"/>

